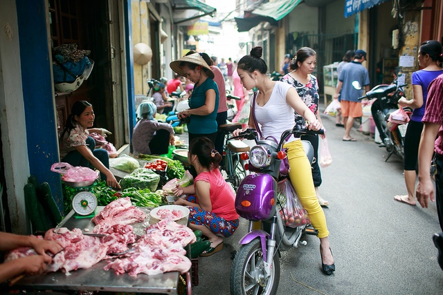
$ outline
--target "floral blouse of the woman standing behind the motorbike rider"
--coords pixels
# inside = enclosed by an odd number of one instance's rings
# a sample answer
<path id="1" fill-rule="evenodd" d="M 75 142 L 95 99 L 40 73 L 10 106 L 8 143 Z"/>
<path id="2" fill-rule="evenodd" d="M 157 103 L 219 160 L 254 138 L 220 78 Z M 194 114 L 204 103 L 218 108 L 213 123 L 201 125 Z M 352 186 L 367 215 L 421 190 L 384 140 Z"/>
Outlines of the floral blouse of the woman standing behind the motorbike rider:
<path id="1" fill-rule="evenodd" d="M 294 79 L 291 75 L 287 74 L 280 79 L 280 81 L 285 82 L 287 84 L 290 84 L 294 88 L 296 88 L 296 91 L 303 102 L 307 105 L 307 107 L 314 113 L 314 115 L 317 114 L 318 111 L 318 83 L 317 78 L 314 75 L 309 75 L 311 79 L 309 79 L 309 82 L 307 82 L 306 85 L 301 84 L 296 79 Z M 303 122 L 303 117 L 299 115 L 297 112 L 294 112 L 295 114 L 295 122 Z M 301 120 L 301 121 L 300 121 Z"/>

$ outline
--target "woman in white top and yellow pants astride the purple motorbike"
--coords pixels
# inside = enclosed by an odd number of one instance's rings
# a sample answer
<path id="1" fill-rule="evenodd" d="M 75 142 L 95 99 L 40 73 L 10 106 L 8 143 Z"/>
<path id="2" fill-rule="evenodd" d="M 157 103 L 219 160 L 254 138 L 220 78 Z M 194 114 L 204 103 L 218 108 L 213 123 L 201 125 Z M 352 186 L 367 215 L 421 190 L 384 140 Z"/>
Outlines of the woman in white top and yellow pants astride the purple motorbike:
<path id="1" fill-rule="evenodd" d="M 254 94 L 256 95 L 254 101 L 255 119 L 261 125 L 263 137 L 273 136 L 280 139 L 284 131 L 292 129 L 294 111 L 307 120 L 306 124 L 309 129 L 321 129 L 323 126 L 318 122 L 314 113 L 302 102 L 295 88 L 284 82 L 271 81 L 266 76 L 268 67 L 261 57 L 262 47 L 254 47 L 250 55 L 239 60 L 237 72 L 247 90 L 258 88 Z M 257 129 L 253 117 L 251 111 L 248 127 Z M 241 131 L 242 129 L 237 129 L 233 135 L 237 136 Z M 316 197 L 311 165 L 300 138 L 289 137 L 283 147 L 287 149 L 289 167 L 291 168 L 289 169 L 289 178 L 293 188 L 296 190 L 302 206 L 309 214 L 312 225 L 318 230 L 323 272 L 328 275 L 332 274 L 335 271 L 335 264 L 329 248 L 329 231 L 327 230 L 325 213 Z"/>

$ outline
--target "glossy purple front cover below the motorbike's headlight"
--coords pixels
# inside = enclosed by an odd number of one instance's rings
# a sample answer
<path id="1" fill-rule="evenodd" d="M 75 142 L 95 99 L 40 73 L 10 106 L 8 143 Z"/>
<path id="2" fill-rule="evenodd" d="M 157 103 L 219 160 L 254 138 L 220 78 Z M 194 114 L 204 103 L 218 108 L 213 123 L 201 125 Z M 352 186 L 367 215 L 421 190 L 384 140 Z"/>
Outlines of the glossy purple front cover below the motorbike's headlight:
<path id="1" fill-rule="evenodd" d="M 237 190 L 235 209 L 248 220 L 267 220 L 275 213 L 277 183 L 271 175 L 256 173 L 246 176 Z"/>

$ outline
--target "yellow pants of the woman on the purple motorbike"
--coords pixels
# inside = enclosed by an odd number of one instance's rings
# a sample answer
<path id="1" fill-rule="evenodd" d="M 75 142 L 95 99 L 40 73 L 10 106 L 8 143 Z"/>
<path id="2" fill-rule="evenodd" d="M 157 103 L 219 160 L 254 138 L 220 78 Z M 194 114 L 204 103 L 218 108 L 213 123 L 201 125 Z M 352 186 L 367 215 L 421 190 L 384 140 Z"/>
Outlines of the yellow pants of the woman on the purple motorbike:
<path id="1" fill-rule="evenodd" d="M 296 190 L 298 199 L 305 207 L 312 226 L 318 230 L 318 238 L 329 236 L 325 212 L 318 203 L 314 182 L 312 181 L 311 165 L 300 140 L 284 144 L 289 160 L 289 178 Z"/>

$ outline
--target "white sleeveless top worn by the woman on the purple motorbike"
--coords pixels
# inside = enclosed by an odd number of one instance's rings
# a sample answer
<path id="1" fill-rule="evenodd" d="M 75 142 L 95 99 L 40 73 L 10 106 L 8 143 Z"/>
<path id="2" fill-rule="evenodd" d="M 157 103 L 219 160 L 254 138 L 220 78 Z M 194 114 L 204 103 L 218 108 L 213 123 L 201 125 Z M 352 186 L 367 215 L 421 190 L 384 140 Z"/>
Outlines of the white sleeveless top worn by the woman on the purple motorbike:
<path id="1" fill-rule="evenodd" d="M 294 109 L 286 102 L 286 95 L 292 86 L 284 82 L 275 82 L 269 101 L 264 106 L 255 102 L 255 119 L 261 125 L 262 136 L 273 136 L 280 141 L 283 131 L 292 129 Z M 287 142 L 296 140 L 293 136 Z"/>

